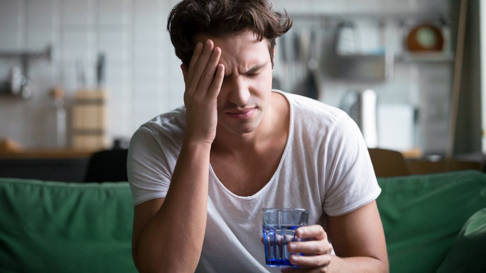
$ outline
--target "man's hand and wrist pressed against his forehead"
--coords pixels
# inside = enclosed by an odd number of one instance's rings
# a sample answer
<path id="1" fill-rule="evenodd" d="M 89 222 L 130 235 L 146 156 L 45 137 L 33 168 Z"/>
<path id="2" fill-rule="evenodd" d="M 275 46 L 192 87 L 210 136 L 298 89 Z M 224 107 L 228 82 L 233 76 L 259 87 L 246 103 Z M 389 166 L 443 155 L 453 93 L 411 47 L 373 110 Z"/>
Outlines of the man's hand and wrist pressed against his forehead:
<path id="1" fill-rule="evenodd" d="M 221 48 L 212 40 L 199 42 L 194 48 L 189 67 L 181 64 L 186 90 L 186 140 L 211 144 L 218 123 L 217 97 L 221 90 L 225 67 L 218 64 Z"/>

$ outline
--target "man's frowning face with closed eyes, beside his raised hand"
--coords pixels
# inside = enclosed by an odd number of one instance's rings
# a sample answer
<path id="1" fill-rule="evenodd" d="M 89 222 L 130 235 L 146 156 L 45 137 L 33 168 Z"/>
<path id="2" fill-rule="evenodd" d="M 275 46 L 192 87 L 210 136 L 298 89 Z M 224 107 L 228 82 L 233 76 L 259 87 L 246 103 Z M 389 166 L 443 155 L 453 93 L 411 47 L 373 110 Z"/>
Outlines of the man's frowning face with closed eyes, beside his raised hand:
<path id="1" fill-rule="evenodd" d="M 221 48 L 225 78 L 218 96 L 218 129 L 235 134 L 254 131 L 268 109 L 272 90 L 272 64 L 268 41 L 251 31 L 224 38 L 199 34 L 195 42 L 214 41 Z"/>

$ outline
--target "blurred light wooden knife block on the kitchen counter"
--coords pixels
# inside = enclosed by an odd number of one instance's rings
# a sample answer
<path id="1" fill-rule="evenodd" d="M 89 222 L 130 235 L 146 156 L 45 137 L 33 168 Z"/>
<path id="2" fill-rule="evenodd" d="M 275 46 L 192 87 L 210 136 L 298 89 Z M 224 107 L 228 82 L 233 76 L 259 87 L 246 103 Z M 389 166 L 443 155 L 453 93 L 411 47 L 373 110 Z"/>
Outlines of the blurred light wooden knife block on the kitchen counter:
<path id="1" fill-rule="evenodd" d="M 106 135 L 106 92 L 78 90 L 72 109 L 72 146 L 81 150 L 102 150 L 108 146 Z"/>

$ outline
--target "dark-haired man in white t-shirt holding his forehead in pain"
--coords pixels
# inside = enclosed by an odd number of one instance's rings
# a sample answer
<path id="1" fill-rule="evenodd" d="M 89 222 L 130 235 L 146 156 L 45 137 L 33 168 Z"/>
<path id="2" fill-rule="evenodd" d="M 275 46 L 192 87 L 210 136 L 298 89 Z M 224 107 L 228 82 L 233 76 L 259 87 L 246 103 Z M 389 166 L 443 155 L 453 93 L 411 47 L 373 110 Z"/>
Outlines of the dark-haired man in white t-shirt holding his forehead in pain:
<path id="1" fill-rule="evenodd" d="M 380 193 L 356 124 L 272 90 L 275 38 L 292 25 L 266 0 L 183 0 L 168 30 L 184 104 L 134 134 L 128 175 L 140 272 L 266 272 L 261 209 L 310 210 L 283 271 L 387 271 Z M 332 243 L 332 245 L 330 244 Z M 334 255 L 335 254 L 335 255 Z M 198 265 L 199 263 L 199 265 Z"/>

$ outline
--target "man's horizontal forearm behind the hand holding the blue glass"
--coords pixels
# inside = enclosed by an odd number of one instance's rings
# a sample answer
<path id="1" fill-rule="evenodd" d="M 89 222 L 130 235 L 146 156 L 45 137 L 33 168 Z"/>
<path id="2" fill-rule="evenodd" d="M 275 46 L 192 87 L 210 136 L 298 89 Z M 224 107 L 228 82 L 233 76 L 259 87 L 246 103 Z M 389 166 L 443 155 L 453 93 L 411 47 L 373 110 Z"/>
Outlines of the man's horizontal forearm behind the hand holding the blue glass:
<path id="1" fill-rule="evenodd" d="M 328 272 L 389 272 L 388 263 L 372 257 L 341 258 L 331 255 Z"/>

